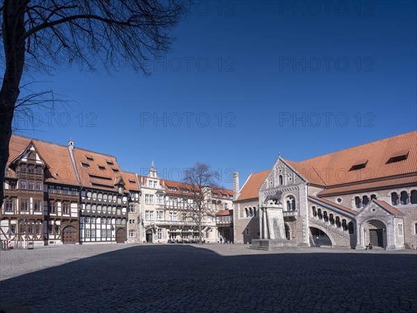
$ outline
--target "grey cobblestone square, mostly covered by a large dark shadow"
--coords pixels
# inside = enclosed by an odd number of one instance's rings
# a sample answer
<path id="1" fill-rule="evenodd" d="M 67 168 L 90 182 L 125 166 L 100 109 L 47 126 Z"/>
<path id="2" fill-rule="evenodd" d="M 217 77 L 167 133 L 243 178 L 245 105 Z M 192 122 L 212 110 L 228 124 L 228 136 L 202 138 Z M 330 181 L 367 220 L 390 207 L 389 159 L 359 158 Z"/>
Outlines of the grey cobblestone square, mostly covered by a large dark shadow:
<path id="1" fill-rule="evenodd" d="M 0 261 L 2 312 L 417 312 L 415 251 L 102 244 Z"/>

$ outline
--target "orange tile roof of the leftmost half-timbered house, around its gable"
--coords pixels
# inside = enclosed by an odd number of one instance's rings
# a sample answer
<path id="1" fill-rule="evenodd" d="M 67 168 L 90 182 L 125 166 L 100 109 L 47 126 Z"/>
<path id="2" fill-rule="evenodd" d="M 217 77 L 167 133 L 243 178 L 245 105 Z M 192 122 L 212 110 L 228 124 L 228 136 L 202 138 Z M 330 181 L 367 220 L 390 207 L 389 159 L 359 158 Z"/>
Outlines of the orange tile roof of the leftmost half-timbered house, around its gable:
<path id="1" fill-rule="evenodd" d="M 24 149 L 28 147 L 28 144 L 31 141 L 35 146 L 35 149 L 38 151 L 40 158 L 42 158 L 49 166 L 45 180 L 50 183 L 79 185 L 79 182 L 76 179 L 74 167 L 72 166 L 68 147 L 60 144 L 44 142 L 42 140 L 13 134 L 10 138 L 9 144 L 8 165 L 10 165 L 10 162 L 15 160 L 15 158 L 17 158 L 24 151 Z M 10 173 L 10 175 L 14 174 Z"/>

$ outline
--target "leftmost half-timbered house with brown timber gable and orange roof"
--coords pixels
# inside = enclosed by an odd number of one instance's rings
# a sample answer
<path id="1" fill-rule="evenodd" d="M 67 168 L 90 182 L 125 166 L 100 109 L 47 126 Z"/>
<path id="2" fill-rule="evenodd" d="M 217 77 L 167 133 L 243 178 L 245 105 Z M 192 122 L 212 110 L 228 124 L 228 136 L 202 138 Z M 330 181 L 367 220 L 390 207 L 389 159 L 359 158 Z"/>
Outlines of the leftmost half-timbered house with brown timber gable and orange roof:
<path id="1" fill-rule="evenodd" d="M 9 150 L 1 239 L 13 246 L 79 243 L 80 185 L 67 147 L 13 135 Z"/>

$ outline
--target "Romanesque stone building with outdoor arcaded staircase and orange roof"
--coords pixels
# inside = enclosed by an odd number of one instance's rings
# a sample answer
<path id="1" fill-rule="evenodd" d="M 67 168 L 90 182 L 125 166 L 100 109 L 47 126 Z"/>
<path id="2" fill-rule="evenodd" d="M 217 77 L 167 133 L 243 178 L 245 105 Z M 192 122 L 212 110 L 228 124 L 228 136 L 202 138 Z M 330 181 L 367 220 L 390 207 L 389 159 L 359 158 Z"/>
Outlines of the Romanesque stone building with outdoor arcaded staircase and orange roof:
<path id="1" fill-rule="evenodd" d="M 237 243 L 258 239 L 259 204 L 281 190 L 299 246 L 417 247 L 417 131 L 252 174 L 234 201 Z"/>

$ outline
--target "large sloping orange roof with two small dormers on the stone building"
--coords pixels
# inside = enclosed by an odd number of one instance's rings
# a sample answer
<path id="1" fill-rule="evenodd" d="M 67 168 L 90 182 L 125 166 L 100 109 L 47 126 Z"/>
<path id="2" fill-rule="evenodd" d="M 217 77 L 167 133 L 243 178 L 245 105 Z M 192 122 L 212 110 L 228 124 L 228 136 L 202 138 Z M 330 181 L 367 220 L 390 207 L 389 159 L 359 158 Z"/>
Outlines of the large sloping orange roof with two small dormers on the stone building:
<path id="1" fill-rule="evenodd" d="M 407 150 L 407 160 L 387 164 L 392 155 Z M 358 160 L 368 160 L 366 167 L 350 170 Z M 298 163 L 316 169 L 327 186 L 417 173 L 417 130 Z"/>

